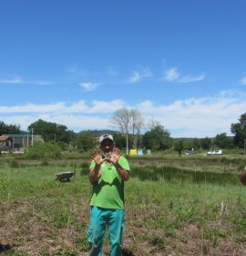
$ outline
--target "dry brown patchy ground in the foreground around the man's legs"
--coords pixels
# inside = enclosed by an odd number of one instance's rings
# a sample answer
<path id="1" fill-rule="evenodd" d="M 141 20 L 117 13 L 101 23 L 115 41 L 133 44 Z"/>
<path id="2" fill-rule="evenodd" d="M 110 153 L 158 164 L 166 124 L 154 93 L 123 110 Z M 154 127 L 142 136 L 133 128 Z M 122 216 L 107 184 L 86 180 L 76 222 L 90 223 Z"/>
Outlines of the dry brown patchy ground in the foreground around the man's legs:
<path id="1" fill-rule="evenodd" d="M 80 213 L 75 208 L 76 221 L 67 227 L 54 229 L 49 216 L 41 214 L 37 208 L 25 201 L 0 203 L 0 253 L 2 255 L 87 255 L 86 231 L 87 209 Z M 147 229 L 144 218 L 138 213 L 138 225 L 127 209 L 123 255 L 125 256 L 246 256 L 246 242 L 235 242 L 235 238 L 220 237 L 216 242 L 202 238 L 201 230 L 194 224 L 175 229 L 167 234 L 163 229 Z M 141 224 L 141 219 L 143 222 Z M 82 223 L 84 231 L 78 230 L 76 223 Z M 210 223 L 220 225 L 220 223 Z M 80 241 L 80 242 L 79 242 Z M 104 255 L 108 254 L 108 242 Z M 12 254 L 11 254 L 12 252 Z M 19 254 L 18 254 L 19 255 Z M 25 255 L 25 254 L 21 254 Z"/>

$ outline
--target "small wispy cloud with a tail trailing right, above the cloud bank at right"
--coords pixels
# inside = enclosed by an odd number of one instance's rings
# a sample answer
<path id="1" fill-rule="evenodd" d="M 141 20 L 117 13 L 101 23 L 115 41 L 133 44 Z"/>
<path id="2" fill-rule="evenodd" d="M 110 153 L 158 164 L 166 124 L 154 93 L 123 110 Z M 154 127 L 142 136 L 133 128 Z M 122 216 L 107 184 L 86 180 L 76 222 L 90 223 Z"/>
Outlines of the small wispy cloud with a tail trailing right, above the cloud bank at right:
<path id="1" fill-rule="evenodd" d="M 171 68 L 171 69 L 165 70 L 164 79 L 168 81 L 179 82 L 179 83 L 190 83 L 190 82 L 204 80 L 205 75 L 200 74 L 198 76 L 181 76 L 177 68 Z"/>

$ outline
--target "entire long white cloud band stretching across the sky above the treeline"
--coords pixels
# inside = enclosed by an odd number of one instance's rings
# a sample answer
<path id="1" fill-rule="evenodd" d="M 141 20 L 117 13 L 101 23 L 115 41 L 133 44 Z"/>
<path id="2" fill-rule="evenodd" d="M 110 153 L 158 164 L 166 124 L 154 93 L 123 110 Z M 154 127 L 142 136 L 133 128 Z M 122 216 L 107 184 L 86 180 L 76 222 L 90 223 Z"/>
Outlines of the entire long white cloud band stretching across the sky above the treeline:
<path id="1" fill-rule="evenodd" d="M 169 104 L 142 101 L 130 108 L 138 108 L 148 123 L 149 119 L 161 123 L 173 137 L 206 137 L 218 133 L 231 134 L 231 123 L 238 123 L 246 110 L 245 95 L 221 92 L 217 98 L 190 98 Z M 37 105 L 0 106 L 0 120 L 20 124 L 26 130 L 30 123 L 43 119 L 61 123 L 75 132 L 87 129 L 105 129 L 112 126 L 110 116 L 116 110 L 127 107 L 122 100 L 56 102 Z"/>

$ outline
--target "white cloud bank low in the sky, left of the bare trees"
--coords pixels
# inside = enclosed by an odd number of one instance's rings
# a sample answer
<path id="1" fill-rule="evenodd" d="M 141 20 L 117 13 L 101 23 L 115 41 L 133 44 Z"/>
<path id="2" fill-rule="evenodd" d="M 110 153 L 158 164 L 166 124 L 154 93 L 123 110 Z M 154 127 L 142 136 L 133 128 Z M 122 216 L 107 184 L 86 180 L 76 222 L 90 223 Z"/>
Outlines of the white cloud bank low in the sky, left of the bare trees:
<path id="1" fill-rule="evenodd" d="M 21 106 L 0 106 L 0 120 L 5 123 L 20 124 L 22 130 L 43 119 L 46 122 L 60 123 L 75 132 L 87 129 L 108 129 L 113 112 L 125 106 L 124 101 L 77 101 L 72 104 L 56 102 L 37 105 L 28 103 Z M 106 117 L 107 116 L 107 117 Z"/>

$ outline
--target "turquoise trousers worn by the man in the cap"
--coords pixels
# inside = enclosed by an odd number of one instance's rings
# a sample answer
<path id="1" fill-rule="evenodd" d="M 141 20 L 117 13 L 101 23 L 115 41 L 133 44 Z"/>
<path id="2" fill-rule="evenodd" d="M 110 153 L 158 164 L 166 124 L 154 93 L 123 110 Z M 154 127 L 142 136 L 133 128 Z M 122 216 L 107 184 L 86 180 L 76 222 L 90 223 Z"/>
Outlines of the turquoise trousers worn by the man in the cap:
<path id="1" fill-rule="evenodd" d="M 91 245 L 89 255 L 101 256 L 106 229 L 110 243 L 110 256 L 121 256 L 124 209 L 91 207 L 87 240 Z"/>

